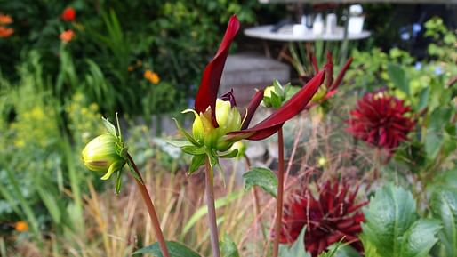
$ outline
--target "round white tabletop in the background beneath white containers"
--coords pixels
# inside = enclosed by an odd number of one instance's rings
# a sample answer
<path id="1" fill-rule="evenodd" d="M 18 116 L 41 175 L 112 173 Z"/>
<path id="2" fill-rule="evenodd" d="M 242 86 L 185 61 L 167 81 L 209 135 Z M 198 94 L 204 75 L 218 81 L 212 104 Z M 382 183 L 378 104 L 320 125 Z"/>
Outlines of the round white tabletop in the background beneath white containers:
<path id="1" fill-rule="evenodd" d="M 277 32 L 271 31 L 274 25 L 258 26 L 253 28 L 245 28 L 245 36 L 260 38 L 271 41 L 293 42 L 293 41 L 343 41 L 344 29 L 341 27 L 336 28 L 334 34 L 327 35 L 314 35 L 312 29 L 307 29 L 302 35 L 293 35 L 292 25 L 285 25 Z M 370 31 L 362 31 L 360 34 L 348 34 L 348 40 L 361 40 L 371 36 Z"/>

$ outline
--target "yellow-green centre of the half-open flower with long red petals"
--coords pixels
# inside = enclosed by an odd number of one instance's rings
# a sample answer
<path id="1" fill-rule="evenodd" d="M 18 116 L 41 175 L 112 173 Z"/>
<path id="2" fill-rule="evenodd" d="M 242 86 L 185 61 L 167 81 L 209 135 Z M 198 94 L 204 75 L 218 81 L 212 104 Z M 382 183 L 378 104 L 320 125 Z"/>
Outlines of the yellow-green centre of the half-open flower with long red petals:
<path id="1" fill-rule="evenodd" d="M 235 106 L 232 106 L 229 100 L 216 100 L 216 120 L 218 128 L 212 125 L 211 109 L 208 108 L 204 113 L 195 115 L 194 124 L 192 124 L 192 133 L 196 141 L 203 143 L 211 149 L 226 151 L 232 143 L 225 141 L 223 137 L 230 132 L 241 129 L 241 115 Z"/>

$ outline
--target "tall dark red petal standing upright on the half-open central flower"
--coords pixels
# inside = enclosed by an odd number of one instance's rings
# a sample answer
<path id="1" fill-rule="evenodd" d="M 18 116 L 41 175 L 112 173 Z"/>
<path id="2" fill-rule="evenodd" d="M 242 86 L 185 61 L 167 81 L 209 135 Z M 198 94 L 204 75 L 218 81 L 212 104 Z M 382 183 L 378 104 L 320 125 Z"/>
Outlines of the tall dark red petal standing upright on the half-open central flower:
<path id="1" fill-rule="evenodd" d="M 225 61 L 229 55 L 230 44 L 232 43 L 235 36 L 237 36 L 238 29 L 240 27 L 237 16 L 233 15 L 229 20 L 229 26 L 225 31 L 225 35 L 222 38 L 218 52 L 214 58 L 204 68 L 202 82 L 196 93 L 196 112 L 204 112 L 206 108 L 211 107 L 212 109 L 212 124 L 214 127 L 219 127 L 216 121 L 216 98 L 219 91 L 220 77 L 224 70 Z"/>

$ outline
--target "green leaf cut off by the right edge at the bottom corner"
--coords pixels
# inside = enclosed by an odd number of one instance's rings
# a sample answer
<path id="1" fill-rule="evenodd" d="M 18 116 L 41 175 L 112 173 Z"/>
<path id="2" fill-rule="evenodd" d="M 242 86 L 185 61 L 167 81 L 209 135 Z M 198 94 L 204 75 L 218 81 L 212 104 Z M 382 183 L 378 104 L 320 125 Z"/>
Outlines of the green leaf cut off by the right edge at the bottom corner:
<path id="1" fill-rule="evenodd" d="M 436 190 L 431 198 L 431 211 L 443 224 L 438 233 L 439 256 L 457 256 L 457 190 Z"/>

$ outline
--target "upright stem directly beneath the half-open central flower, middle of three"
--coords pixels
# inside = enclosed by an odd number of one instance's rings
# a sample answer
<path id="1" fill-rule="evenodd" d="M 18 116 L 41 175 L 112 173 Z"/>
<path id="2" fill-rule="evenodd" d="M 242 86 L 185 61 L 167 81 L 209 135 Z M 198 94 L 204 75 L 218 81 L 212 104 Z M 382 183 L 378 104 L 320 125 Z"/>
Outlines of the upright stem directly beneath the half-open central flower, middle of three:
<path id="1" fill-rule="evenodd" d="M 220 257 L 218 225 L 216 221 L 216 207 L 214 206 L 214 173 L 210 165 L 210 157 L 206 157 L 205 189 L 206 205 L 208 206 L 208 220 L 210 224 L 212 256 Z"/>

